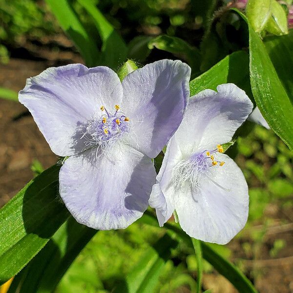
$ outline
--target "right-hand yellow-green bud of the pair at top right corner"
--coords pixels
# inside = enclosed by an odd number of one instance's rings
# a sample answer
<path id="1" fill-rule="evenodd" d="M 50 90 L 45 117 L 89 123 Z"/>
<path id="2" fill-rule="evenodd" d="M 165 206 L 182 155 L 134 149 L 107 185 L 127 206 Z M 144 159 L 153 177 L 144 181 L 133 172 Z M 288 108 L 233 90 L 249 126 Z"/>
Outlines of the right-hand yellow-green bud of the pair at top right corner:
<path id="1" fill-rule="evenodd" d="M 273 35 L 288 34 L 288 20 L 285 10 L 276 1 L 271 0 L 271 17 L 266 24 L 266 30 Z"/>

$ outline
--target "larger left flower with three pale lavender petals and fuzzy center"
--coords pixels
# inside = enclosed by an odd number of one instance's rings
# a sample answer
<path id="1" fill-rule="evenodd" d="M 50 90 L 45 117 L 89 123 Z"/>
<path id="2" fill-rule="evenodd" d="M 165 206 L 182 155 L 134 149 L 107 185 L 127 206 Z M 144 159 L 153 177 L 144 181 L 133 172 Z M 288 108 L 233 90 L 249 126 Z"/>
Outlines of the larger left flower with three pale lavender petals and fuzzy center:
<path id="1" fill-rule="evenodd" d="M 190 68 L 161 60 L 120 82 L 108 67 L 70 64 L 30 78 L 19 100 L 52 151 L 70 156 L 60 195 L 81 224 L 122 229 L 142 216 L 155 183 L 154 158 L 182 121 Z"/>

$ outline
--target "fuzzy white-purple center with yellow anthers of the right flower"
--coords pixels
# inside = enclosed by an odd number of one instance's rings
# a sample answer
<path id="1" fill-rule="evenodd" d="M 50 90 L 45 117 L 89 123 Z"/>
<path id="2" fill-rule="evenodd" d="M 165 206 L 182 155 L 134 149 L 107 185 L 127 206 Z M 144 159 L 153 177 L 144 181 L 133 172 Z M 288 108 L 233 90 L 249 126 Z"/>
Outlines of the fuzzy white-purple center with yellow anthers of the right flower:
<path id="1" fill-rule="evenodd" d="M 213 150 L 204 150 L 202 152 L 194 153 L 188 160 L 180 161 L 175 166 L 172 174 L 175 186 L 179 188 L 182 184 L 188 181 L 191 183 L 192 189 L 197 190 L 200 187 L 201 178 L 209 178 L 209 175 L 212 174 L 210 168 L 214 169 L 222 167 L 225 164 L 225 162 L 215 160 L 217 152 L 224 152 L 221 145 L 217 145 Z M 212 180 L 212 178 L 209 179 Z"/>

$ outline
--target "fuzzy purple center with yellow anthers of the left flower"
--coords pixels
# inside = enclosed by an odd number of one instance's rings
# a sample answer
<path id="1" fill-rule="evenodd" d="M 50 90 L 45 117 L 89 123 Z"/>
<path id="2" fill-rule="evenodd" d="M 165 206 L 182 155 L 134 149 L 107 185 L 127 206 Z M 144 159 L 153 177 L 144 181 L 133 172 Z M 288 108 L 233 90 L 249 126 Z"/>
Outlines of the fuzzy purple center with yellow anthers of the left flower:
<path id="1" fill-rule="evenodd" d="M 88 139 L 85 142 L 86 146 L 98 146 L 104 151 L 129 132 L 129 118 L 120 111 L 119 105 L 115 105 L 114 113 L 108 112 L 104 106 L 100 109 L 102 115 L 99 119 L 90 121 L 82 138 Z"/>

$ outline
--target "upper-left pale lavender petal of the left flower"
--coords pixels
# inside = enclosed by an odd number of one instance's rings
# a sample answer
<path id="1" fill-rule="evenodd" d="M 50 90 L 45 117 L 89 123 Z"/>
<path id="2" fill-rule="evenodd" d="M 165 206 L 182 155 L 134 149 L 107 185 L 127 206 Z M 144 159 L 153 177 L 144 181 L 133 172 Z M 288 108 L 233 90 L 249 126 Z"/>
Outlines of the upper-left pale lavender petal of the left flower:
<path id="1" fill-rule="evenodd" d="M 86 122 L 101 105 L 112 108 L 122 99 L 122 85 L 108 67 L 82 64 L 51 67 L 27 79 L 19 93 L 21 104 L 32 113 L 52 151 L 60 156 L 84 148 Z"/>

